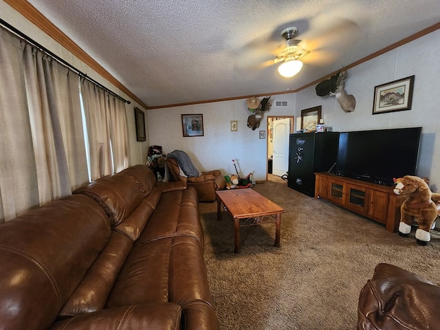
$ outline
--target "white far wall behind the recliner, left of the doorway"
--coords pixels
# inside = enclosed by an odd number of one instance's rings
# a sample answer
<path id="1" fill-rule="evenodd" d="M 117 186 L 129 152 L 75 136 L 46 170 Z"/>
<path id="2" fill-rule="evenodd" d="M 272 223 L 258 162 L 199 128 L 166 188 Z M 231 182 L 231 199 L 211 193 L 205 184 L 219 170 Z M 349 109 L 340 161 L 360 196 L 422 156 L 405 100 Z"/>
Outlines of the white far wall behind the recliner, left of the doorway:
<path id="1" fill-rule="evenodd" d="M 197 104 L 186 107 L 153 109 L 147 111 L 150 143 L 164 148 L 165 153 L 183 150 L 194 159 L 201 170 L 220 169 L 234 174 L 232 159 L 237 159 L 240 175 L 252 172 L 254 179 L 262 180 L 267 173 L 267 115 L 294 115 L 295 95 L 272 96 L 270 101 L 287 100 L 288 107 L 271 107 L 255 131 L 247 126 L 248 107 L 245 100 Z M 183 137 L 181 114 L 203 114 L 203 136 Z M 230 121 L 238 121 L 238 131 L 230 131 Z M 259 138 L 266 132 L 266 139 Z"/>

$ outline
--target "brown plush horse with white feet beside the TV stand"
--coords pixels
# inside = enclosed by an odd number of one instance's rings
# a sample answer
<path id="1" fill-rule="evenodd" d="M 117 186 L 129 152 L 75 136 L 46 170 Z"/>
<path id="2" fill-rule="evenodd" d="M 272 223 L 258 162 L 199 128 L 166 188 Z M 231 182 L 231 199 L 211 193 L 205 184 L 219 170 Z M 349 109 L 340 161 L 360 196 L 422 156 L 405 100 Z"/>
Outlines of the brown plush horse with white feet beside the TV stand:
<path id="1" fill-rule="evenodd" d="M 400 208 L 399 235 L 408 236 L 411 225 L 417 222 L 415 238 L 420 245 L 430 241 L 430 230 L 440 215 L 440 194 L 432 193 L 427 180 L 405 175 L 395 179 L 394 192 L 405 197 Z"/>

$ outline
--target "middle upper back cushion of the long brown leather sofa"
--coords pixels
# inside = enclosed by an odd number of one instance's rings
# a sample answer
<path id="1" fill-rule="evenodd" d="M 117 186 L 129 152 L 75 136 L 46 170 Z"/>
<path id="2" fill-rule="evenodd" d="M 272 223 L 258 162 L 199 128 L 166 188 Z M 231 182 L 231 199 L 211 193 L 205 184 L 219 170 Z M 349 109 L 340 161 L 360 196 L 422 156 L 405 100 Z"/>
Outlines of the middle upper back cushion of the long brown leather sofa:
<path id="1" fill-rule="evenodd" d="M 121 173 L 100 177 L 87 186 L 76 189 L 74 194 L 83 194 L 95 199 L 106 212 L 112 225 L 124 221 L 144 199 L 135 179 Z"/>

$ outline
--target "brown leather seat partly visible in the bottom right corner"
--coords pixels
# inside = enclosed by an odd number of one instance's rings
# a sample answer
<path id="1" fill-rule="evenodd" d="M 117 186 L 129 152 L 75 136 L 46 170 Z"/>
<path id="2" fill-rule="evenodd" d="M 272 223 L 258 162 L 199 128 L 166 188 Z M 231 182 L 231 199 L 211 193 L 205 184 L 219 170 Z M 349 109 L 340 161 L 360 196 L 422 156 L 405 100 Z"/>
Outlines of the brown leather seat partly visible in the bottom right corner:
<path id="1" fill-rule="evenodd" d="M 439 329 L 439 305 L 438 285 L 380 263 L 360 292 L 358 329 Z"/>

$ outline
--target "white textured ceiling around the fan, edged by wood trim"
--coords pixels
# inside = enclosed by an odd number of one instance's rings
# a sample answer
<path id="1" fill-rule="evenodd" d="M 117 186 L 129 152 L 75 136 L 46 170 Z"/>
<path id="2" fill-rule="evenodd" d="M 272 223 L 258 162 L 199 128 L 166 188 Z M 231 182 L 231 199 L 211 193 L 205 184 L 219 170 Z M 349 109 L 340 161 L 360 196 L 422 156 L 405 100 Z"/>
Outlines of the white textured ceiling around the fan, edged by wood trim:
<path id="1" fill-rule="evenodd" d="M 295 90 L 440 21 L 439 0 L 29 0 L 148 107 Z M 278 75 L 281 31 L 309 51 Z"/>

